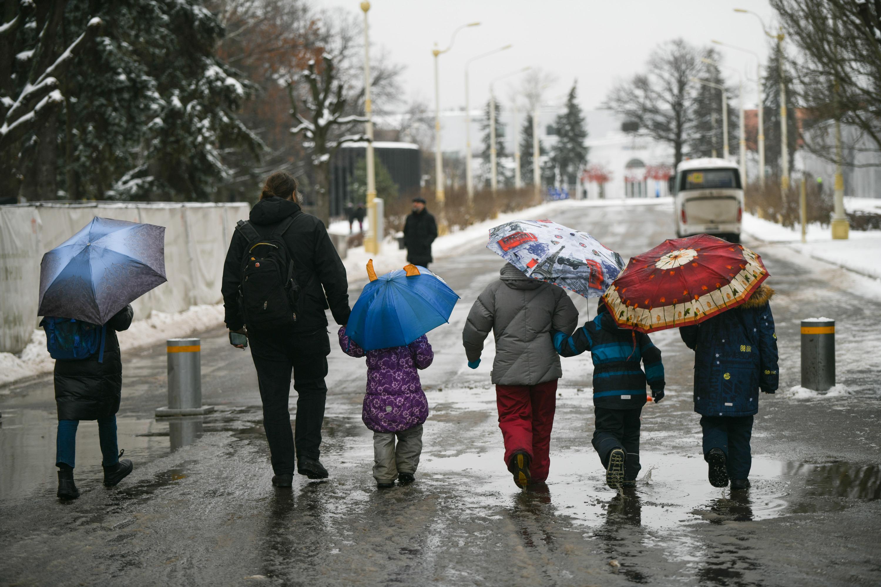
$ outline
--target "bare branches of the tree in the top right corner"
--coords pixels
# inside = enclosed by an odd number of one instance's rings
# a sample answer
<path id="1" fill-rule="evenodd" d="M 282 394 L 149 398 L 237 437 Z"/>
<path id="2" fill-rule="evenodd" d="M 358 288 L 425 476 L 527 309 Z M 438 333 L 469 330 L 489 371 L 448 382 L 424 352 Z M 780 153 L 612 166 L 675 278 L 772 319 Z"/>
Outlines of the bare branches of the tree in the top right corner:
<path id="1" fill-rule="evenodd" d="M 798 98 L 815 127 L 805 146 L 834 158 L 826 121 L 839 118 L 855 129 L 849 150 L 874 154 L 855 166 L 881 165 L 881 1 L 771 0 L 788 39 L 801 49 L 792 70 Z"/>

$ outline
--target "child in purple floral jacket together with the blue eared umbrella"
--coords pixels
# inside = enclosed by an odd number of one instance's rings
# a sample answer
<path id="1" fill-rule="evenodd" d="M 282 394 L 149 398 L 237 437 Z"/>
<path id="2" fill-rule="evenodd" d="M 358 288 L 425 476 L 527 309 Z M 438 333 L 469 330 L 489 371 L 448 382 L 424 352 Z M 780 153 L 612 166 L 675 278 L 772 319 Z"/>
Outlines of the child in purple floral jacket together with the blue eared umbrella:
<path id="1" fill-rule="evenodd" d="M 426 333 L 448 321 L 459 297 L 426 268 L 407 265 L 376 276 L 339 329 L 339 346 L 348 356 L 367 357 L 367 388 L 361 419 L 374 431 L 377 488 L 414 481 L 422 453 L 422 425 L 428 400 L 418 370 L 434 355 Z M 397 442 L 396 442 L 397 441 Z"/>

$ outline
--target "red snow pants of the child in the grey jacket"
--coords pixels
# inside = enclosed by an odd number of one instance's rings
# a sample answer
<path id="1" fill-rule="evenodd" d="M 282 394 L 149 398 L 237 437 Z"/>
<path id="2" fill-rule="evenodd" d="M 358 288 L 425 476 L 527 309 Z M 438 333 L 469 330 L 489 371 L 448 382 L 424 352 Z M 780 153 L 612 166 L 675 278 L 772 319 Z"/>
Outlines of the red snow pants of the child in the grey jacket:
<path id="1" fill-rule="evenodd" d="M 517 451 L 532 459 L 533 483 L 548 478 L 551 429 L 557 407 L 557 379 L 538 385 L 496 385 L 499 428 L 505 440 L 505 466 Z"/>

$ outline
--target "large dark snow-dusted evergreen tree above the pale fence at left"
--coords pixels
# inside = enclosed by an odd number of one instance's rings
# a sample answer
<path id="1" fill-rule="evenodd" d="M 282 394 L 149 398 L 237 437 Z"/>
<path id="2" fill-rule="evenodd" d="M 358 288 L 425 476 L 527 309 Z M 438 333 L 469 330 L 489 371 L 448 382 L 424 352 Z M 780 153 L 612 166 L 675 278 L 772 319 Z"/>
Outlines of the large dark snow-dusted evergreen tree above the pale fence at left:
<path id="1" fill-rule="evenodd" d="M 210 200 L 226 150 L 262 148 L 236 115 L 252 86 L 215 55 L 223 26 L 201 2 L 71 0 L 65 27 L 96 5 L 105 36 L 67 80 L 69 197 Z"/>

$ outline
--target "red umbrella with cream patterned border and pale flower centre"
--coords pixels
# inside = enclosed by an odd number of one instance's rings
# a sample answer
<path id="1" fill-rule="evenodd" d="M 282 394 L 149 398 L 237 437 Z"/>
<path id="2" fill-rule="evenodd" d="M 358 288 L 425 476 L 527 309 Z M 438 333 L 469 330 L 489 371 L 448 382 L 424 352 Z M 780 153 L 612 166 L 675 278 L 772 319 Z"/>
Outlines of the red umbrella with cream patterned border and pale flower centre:
<path id="1" fill-rule="evenodd" d="M 665 240 L 633 257 L 603 300 L 619 327 L 648 333 L 736 308 L 767 276 L 757 253 L 699 234 Z"/>

